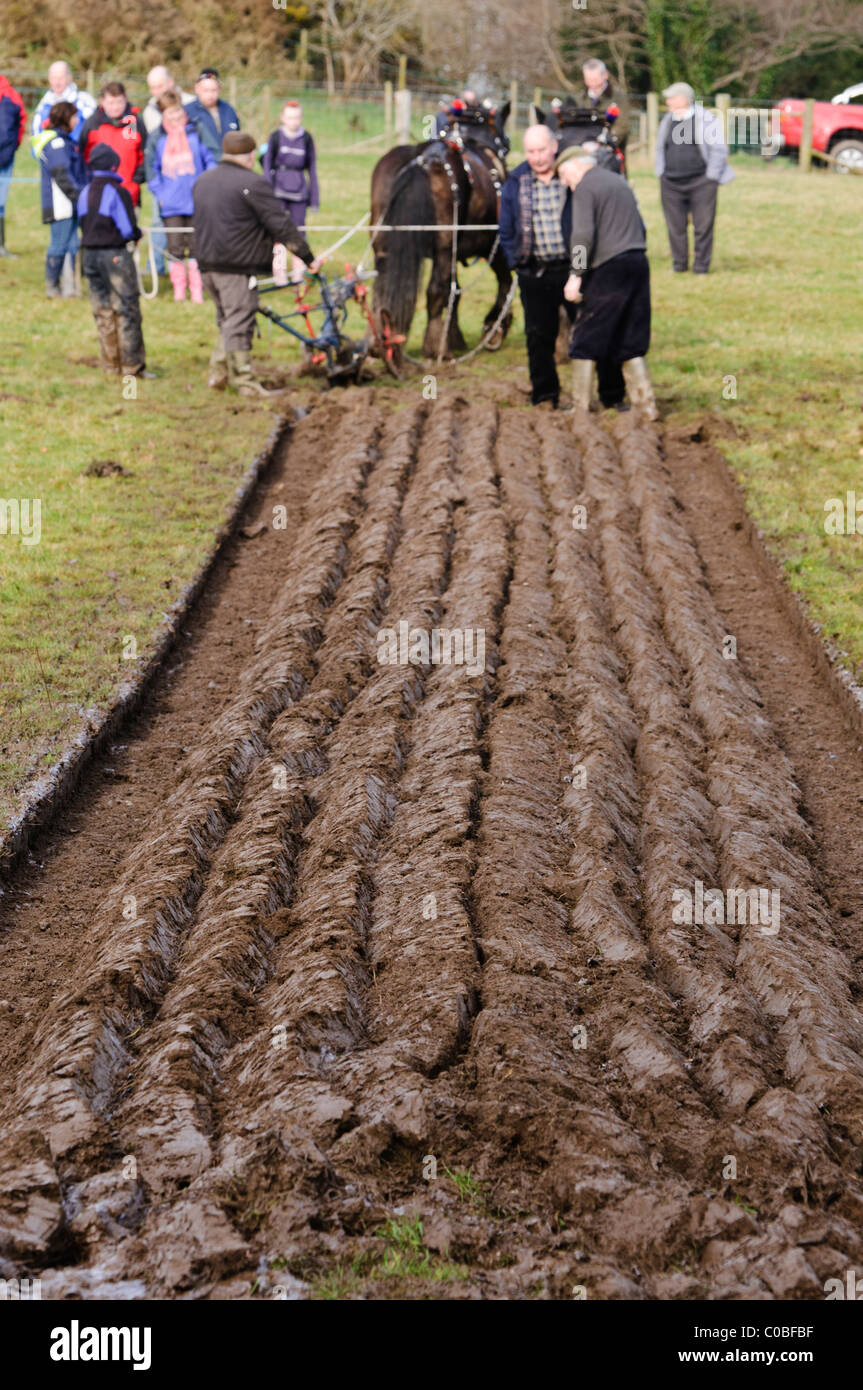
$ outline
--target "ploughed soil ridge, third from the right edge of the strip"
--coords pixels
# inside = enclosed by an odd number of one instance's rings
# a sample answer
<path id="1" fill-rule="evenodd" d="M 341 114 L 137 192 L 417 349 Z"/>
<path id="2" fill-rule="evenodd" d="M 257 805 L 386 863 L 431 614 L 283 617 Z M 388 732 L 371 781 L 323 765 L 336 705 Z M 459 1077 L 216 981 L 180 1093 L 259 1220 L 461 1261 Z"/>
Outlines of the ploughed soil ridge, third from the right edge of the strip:
<path id="1" fill-rule="evenodd" d="M 574 733 L 573 780 L 564 798 L 577 892 L 571 930 L 592 962 L 593 983 L 582 1008 L 602 1020 L 595 1040 L 607 1058 L 606 1081 L 621 1112 L 638 1130 L 661 1129 L 659 1152 L 687 1172 L 698 1165 L 710 1133 L 713 1102 L 677 1041 L 680 997 L 663 984 L 648 949 L 641 728 L 591 528 L 573 525 L 581 520 L 573 507 L 589 509 L 593 502 L 586 492 L 574 492 L 566 452 L 546 449 L 543 468 L 554 517 L 557 620 L 568 646 L 563 692 Z M 668 1105 L 677 1111 L 675 1126 L 656 1126 L 656 1112 Z"/>

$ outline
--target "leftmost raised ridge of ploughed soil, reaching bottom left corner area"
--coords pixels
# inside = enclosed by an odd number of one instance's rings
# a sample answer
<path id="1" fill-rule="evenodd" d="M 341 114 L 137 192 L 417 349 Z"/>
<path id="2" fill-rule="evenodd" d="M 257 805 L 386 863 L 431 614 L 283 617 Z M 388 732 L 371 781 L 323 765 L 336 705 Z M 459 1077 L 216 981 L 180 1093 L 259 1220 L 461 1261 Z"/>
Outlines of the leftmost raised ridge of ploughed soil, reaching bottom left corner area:
<path id="1" fill-rule="evenodd" d="M 377 411 L 365 410 L 354 446 L 334 460 L 335 477 L 318 486 L 286 574 L 288 602 L 296 605 L 290 619 L 260 635 L 258 657 L 235 702 L 189 755 L 176 791 L 97 905 L 72 984 L 36 1031 L 0 1150 L 13 1248 L 44 1251 L 58 1238 L 56 1165 L 63 1165 L 64 1179 L 76 1176 L 72 1155 L 82 1156 L 104 1138 L 101 1111 L 129 1061 L 125 1037 L 146 1022 L 164 991 L 210 859 L 264 753 L 267 726 L 306 681 L 320 614 L 343 578 L 346 539 L 374 463 L 378 428 Z"/>

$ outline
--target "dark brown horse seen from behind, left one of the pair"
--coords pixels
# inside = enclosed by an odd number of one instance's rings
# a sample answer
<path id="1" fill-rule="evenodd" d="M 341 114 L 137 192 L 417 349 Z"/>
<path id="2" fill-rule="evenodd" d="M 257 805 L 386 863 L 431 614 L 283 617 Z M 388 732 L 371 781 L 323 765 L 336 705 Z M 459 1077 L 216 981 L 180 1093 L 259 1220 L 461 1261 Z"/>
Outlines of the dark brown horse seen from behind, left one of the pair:
<path id="1" fill-rule="evenodd" d="M 420 272 L 431 260 L 432 272 L 425 293 L 428 325 L 422 339 L 425 357 L 446 357 L 467 348 L 459 327 L 459 263 L 488 260 L 498 277 L 498 296 L 485 316 L 484 336 L 498 324 L 486 348 L 500 348 L 510 327 L 509 310 L 502 314 L 513 282 L 500 247 L 498 222 L 500 186 L 506 178 L 503 125 L 509 104 L 500 113 L 482 107 L 453 125 L 438 139 L 421 145 L 399 145 L 375 165 L 371 177 L 371 221 L 395 227 L 434 227 L 429 232 L 372 232 L 375 253 L 375 316 L 395 334 L 407 334 L 417 307 Z M 456 231 L 453 222 L 489 224 L 489 231 Z M 443 335 L 446 334 L 446 339 Z"/>

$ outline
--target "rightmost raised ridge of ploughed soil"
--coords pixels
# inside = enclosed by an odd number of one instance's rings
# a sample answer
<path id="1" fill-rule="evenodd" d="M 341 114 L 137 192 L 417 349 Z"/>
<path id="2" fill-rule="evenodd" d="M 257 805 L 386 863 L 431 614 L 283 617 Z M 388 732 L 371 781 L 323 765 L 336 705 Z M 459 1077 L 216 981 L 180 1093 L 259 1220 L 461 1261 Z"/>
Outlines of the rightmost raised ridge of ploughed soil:
<path id="1" fill-rule="evenodd" d="M 661 594 L 668 639 L 689 673 L 692 709 L 709 738 L 707 787 L 721 887 L 781 894 L 775 934 L 773 924 L 767 933 L 766 923 L 738 924 L 737 972 L 778 1022 L 785 1074 L 796 1093 L 795 1126 L 821 1147 L 827 1111 L 834 1144 L 859 1154 L 863 1020 L 852 999 L 846 955 L 834 938 L 841 919 L 831 920 L 816 883 L 794 770 L 742 659 L 723 655 L 727 634 L 675 513 L 656 445 L 621 430 L 621 461 L 641 512 L 646 573 Z M 769 1093 L 753 1106 L 766 1129 L 781 1120 L 784 1095 Z"/>

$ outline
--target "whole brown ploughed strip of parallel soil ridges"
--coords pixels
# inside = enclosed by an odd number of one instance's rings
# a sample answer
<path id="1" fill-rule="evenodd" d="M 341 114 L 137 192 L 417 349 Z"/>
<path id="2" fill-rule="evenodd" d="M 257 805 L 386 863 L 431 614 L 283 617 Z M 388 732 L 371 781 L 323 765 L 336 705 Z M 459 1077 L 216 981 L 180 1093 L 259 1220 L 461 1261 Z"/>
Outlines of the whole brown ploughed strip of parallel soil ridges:
<path id="1" fill-rule="evenodd" d="M 824 1297 L 863 755 L 713 450 L 349 389 L 257 516 L 0 899 L 0 1273 Z"/>

